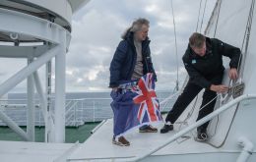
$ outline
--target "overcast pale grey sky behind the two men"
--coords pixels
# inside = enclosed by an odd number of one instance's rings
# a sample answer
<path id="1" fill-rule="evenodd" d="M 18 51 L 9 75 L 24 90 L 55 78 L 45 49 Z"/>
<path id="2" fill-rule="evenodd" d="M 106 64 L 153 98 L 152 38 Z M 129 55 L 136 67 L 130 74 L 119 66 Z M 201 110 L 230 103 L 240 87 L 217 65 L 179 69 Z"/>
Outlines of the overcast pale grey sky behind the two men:
<path id="1" fill-rule="evenodd" d="M 182 84 L 186 72 L 181 57 L 187 47 L 188 37 L 196 30 L 200 0 L 173 0 L 178 58 L 175 54 L 170 3 L 170 0 L 91 0 L 75 13 L 72 21 L 72 40 L 67 54 L 66 90 L 109 90 L 109 65 L 113 53 L 123 31 L 137 18 L 150 21 L 150 47 L 158 75 L 157 90 L 174 88 L 177 66 L 179 81 Z M 205 0 L 202 2 L 199 29 L 204 3 Z M 207 1 L 201 32 L 206 27 L 215 3 L 216 0 Z M 0 68 L 3 70 L 7 64 L 13 64 L 13 61 L 6 59 Z M 16 71 L 18 70 L 15 68 L 1 71 L 0 78 L 6 80 Z M 18 85 L 15 89 L 25 91 L 24 85 L 26 83 Z"/>

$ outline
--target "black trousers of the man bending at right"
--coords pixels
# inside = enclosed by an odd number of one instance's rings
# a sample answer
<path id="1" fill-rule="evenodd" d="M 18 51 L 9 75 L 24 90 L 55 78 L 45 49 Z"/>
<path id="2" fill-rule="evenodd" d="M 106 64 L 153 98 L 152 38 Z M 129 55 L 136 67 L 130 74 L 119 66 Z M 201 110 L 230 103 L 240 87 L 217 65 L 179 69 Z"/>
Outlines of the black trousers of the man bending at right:
<path id="1" fill-rule="evenodd" d="M 214 79 L 211 80 L 214 84 L 221 84 L 223 81 L 223 75 L 216 76 Z M 203 89 L 203 87 L 193 83 L 192 81 L 188 81 L 186 84 L 183 92 L 179 95 L 176 102 L 174 103 L 172 109 L 168 112 L 165 122 L 170 122 L 174 124 L 178 117 L 182 114 L 182 112 L 186 109 L 186 107 L 190 104 L 190 102 L 197 96 L 197 94 Z M 210 89 L 205 89 L 203 94 L 203 101 L 200 106 L 202 108 L 206 104 L 203 109 L 199 111 L 197 121 L 204 118 L 208 114 L 212 113 L 215 108 L 216 104 L 216 97 L 217 93 Z M 214 99 L 215 98 L 215 99 Z M 210 102 L 214 99 L 212 102 Z M 198 128 L 198 130 L 206 131 L 209 122 L 203 124 Z"/>

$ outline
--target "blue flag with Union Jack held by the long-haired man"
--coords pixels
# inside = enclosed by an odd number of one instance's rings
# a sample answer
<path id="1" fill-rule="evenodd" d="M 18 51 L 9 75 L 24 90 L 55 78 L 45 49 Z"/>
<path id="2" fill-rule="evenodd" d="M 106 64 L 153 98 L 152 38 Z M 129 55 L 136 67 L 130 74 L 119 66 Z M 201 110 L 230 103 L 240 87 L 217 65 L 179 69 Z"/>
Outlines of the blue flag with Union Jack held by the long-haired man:
<path id="1" fill-rule="evenodd" d="M 120 87 L 122 89 L 111 92 L 114 136 L 123 135 L 133 128 L 162 121 L 153 74 L 143 76 L 137 84 L 127 81 Z"/>

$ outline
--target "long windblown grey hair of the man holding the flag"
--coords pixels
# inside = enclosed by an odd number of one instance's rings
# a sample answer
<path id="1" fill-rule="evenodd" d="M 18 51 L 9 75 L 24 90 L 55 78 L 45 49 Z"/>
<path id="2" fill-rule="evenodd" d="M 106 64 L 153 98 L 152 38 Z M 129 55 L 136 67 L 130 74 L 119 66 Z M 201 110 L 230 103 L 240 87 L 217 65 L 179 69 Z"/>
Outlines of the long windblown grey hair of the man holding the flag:
<path id="1" fill-rule="evenodd" d="M 137 31 L 141 30 L 143 25 L 146 25 L 147 27 L 150 27 L 150 21 L 148 21 L 145 18 L 139 18 L 139 19 L 135 20 L 133 22 L 132 26 L 128 27 L 124 31 L 124 33 L 122 34 L 122 38 L 125 38 L 127 32 L 129 32 L 129 31 L 137 32 Z"/>

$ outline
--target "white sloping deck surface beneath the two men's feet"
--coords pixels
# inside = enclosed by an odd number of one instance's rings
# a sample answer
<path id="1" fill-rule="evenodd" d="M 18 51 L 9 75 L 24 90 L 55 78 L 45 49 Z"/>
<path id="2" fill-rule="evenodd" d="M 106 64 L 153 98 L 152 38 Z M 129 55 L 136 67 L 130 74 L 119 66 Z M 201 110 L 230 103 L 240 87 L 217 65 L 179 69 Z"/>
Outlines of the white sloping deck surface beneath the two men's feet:
<path id="1" fill-rule="evenodd" d="M 162 124 L 158 124 L 157 127 L 160 129 Z M 160 145 L 160 143 L 164 142 L 165 139 L 171 135 L 174 135 L 175 133 L 177 132 L 174 131 L 162 135 L 160 133 L 139 133 L 138 130 L 134 130 L 126 136 L 131 142 L 130 146 L 117 146 L 111 142 L 112 120 L 108 120 L 99 130 L 96 131 L 94 135 L 81 144 L 80 147 L 68 157 L 68 160 L 103 160 L 134 157 L 144 151 Z M 175 149 L 172 149 L 173 147 Z M 217 149 L 209 144 L 197 142 L 193 137 L 190 137 L 187 140 L 184 140 L 184 138 L 179 138 L 166 147 L 160 149 L 154 155 L 216 151 Z"/>

